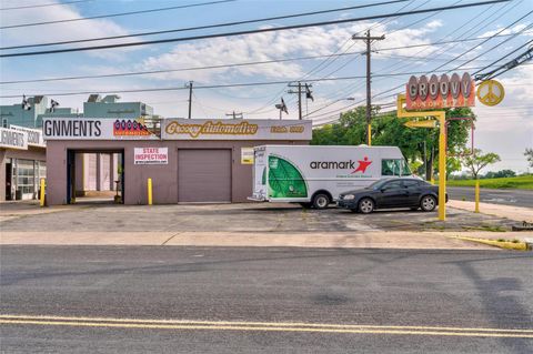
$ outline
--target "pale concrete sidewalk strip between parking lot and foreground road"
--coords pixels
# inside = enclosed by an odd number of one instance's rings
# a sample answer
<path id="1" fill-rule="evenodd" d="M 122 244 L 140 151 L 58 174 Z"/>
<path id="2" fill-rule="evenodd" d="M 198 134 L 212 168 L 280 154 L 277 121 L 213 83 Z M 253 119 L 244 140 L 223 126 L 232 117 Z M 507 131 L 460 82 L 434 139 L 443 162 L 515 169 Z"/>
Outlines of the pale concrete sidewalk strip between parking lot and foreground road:
<path id="1" fill-rule="evenodd" d="M 509 232 L 2 232 L 2 245 L 260 246 L 497 250 L 454 236 L 523 240 Z M 531 236 L 531 234 L 529 235 Z"/>

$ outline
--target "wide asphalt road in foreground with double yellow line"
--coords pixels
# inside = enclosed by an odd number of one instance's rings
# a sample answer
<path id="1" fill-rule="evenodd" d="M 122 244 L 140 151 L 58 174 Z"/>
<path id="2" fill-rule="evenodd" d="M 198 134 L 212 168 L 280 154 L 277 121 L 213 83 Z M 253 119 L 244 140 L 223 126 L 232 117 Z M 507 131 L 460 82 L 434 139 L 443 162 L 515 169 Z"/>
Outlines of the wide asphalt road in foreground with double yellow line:
<path id="1" fill-rule="evenodd" d="M 2 246 L 0 260 L 6 353 L 533 351 L 529 253 Z"/>

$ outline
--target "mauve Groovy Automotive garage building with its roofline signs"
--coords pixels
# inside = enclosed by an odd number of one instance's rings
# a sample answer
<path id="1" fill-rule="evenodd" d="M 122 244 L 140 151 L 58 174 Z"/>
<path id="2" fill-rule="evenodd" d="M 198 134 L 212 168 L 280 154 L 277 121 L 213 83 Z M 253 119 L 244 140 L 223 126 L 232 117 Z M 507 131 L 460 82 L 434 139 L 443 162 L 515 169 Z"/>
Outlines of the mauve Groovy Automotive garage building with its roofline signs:
<path id="1" fill-rule="evenodd" d="M 311 121 L 51 118 L 44 119 L 49 205 L 76 201 L 80 153 L 118 154 L 124 204 L 245 202 L 253 146 L 308 144 Z"/>

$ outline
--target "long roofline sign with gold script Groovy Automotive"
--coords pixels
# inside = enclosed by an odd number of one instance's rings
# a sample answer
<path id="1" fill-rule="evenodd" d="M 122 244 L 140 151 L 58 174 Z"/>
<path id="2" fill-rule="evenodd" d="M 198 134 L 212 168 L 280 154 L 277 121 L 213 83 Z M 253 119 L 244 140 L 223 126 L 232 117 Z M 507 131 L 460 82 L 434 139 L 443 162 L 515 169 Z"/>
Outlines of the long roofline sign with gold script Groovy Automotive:
<path id="1" fill-rule="evenodd" d="M 165 119 L 163 140 L 311 140 L 308 120 Z"/>

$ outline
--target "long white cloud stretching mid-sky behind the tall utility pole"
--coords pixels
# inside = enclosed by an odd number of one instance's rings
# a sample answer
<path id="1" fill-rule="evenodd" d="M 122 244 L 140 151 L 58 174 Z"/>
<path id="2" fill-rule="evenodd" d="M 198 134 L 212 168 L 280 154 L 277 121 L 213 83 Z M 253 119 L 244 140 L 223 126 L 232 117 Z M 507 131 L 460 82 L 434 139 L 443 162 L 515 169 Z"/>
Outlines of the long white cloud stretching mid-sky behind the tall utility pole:
<path id="1" fill-rule="evenodd" d="M 363 51 L 364 42 L 352 42 L 351 36 L 362 34 L 369 27 L 374 33 L 386 33 L 388 28 L 380 22 L 360 22 L 349 26 L 329 26 L 289 31 L 263 32 L 253 36 L 215 38 L 211 40 L 180 43 L 170 52 L 145 59 L 137 69 L 165 70 L 190 67 L 219 65 L 249 61 L 266 61 L 280 58 L 326 55 L 334 52 Z M 442 27 L 434 20 L 418 29 L 403 29 L 388 36 L 382 47 L 403 47 L 429 43 L 428 34 Z M 409 54 L 412 50 L 399 49 L 388 53 Z M 316 65 L 324 59 L 311 61 Z M 324 70 L 328 72 L 329 70 Z M 331 70 L 330 70 L 331 71 Z M 263 77 L 268 79 L 298 79 L 305 73 L 303 62 L 280 62 L 261 65 L 222 68 L 202 71 L 182 71 L 152 75 L 155 80 L 228 80 L 235 77 Z"/>

